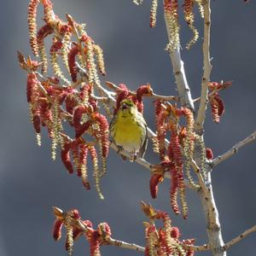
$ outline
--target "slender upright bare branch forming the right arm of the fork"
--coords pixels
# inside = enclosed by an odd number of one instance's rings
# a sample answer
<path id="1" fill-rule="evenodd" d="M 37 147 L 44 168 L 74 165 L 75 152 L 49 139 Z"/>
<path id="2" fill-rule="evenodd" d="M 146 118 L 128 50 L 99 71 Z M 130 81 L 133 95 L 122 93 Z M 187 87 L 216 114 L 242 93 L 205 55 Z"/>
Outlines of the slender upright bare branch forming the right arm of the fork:
<path id="1" fill-rule="evenodd" d="M 211 59 L 210 59 L 210 30 L 211 30 L 211 7 L 210 0 L 204 3 L 204 42 L 203 58 L 204 58 L 204 73 L 201 81 L 201 100 L 200 106 L 195 120 L 195 131 L 203 131 L 203 124 L 206 118 L 206 110 L 208 104 L 208 82 L 210 81 L 210 75 L 212 71 Z"/>

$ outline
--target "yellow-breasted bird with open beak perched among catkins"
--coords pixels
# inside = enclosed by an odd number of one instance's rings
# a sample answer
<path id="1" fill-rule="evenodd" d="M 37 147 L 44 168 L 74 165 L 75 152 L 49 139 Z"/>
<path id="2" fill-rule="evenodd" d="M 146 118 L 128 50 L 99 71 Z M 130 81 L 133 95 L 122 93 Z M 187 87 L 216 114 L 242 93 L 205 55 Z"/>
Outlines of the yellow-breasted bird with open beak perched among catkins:
<path id="1" fill-rule="evenodd" d="M 148 125 L 143 114 L 137 110 L 136 104 L 130 99 L 120 102 L 118 112 L 110 123 L 110 135 L 119 151 L 130 153 L 130 160 L 143 158 L 148 145 Z M 122 159 L 126 157 L 120 154 Z"/>

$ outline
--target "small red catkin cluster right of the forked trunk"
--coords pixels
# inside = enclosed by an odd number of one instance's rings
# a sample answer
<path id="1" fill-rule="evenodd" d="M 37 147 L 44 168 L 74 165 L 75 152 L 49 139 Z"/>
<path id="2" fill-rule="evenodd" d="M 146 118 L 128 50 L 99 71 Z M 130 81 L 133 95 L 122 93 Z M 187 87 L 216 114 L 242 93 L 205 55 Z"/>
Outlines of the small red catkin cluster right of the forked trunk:
<path id="1" fill-rule="evenodd" d="M 218 91 L 224 90 L 230 87 L 231 82 L 210 82 L 208 88 L 210 90 L 209 101 L 211 104 L 212 120 L 214 123 L 218 124 L 220 117 L 224 114 L 225 107 L 222 98 L 219 96 Z"/>

